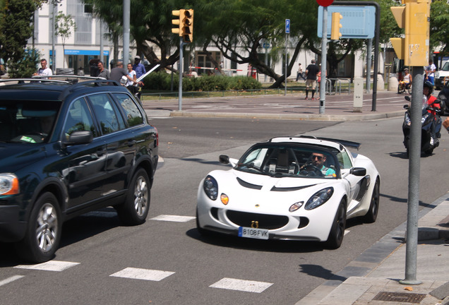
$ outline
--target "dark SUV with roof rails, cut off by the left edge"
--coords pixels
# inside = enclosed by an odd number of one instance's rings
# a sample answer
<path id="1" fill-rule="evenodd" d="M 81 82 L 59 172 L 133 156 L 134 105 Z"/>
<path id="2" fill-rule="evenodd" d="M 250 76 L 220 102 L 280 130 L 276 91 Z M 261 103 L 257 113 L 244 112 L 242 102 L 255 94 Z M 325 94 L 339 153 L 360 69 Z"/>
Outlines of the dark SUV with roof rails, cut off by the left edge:
<path id="1" fill-rule="evenodd" d="M 27 261 L 52 259 L 62 223 L 113 206 L 145 222 L 158 133 L 111 80 L 0 83 L 0 241 Z"/>

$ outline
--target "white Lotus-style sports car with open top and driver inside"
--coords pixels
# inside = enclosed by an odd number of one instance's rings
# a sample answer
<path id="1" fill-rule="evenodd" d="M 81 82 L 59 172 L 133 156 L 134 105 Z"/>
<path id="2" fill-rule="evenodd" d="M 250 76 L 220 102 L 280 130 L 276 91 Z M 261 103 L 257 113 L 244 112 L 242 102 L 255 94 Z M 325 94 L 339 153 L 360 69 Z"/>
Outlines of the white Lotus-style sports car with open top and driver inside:
<path id="1" fill-rule="evenodd" d="M 369 158 L 349 152 L 359 143 L 313 136 L 278 137 L 253 145 L 232 169 L 200 182 L 196 225 L 253 239 L 342 244 L 348 218 L 375 222 L 380 176 Z"/>

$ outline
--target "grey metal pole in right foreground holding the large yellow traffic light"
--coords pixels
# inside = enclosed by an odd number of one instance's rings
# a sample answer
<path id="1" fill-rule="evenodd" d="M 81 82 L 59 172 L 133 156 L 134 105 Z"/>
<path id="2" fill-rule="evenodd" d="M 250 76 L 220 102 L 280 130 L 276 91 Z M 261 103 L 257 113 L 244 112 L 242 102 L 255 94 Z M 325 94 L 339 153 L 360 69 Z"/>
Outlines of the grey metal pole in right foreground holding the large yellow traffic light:
<path id="1" fill-rule="evenodd" d="M 421 117 L 423 102 L 424 68 L 414 66 L 409 149 L 409 202 L 407 210 L 407 243 L 405 253 L 405 279 L 401 284 L 419 285 L 417 280 L 419 170 L 421 166 Z"/>

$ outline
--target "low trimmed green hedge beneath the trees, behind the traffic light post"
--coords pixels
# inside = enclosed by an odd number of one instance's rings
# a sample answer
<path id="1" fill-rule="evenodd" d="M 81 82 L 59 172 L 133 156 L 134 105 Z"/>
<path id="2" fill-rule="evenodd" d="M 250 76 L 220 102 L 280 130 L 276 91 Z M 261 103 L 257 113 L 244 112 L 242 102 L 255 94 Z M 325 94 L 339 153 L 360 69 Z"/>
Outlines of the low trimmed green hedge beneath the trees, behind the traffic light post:
<path id="1" fill-rule="evenodd" d="M 164 72 L 150 73 L 143 80 L 145 90 L 169 91 L 172 85 L 172 75 Z M 173 88 L 179 88 L 179 74 L 173 76 Z M 202 76 L 198 78 L 183 78 L 182 88 L 185 91 L 224 91 L 261 89 L 262 84 L 254 78 L 246 76 Z"/>

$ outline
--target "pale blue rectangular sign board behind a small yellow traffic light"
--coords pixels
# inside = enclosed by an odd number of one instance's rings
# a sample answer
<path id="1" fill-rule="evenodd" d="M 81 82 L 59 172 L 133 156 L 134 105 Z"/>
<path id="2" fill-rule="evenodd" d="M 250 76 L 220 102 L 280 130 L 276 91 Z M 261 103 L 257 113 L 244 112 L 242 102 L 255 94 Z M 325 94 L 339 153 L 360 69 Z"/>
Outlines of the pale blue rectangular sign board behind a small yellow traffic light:
<path id="1" fill-rule="evenodd" d="M 374 6 L 328 6 L 327 37 L 330 38 L 332 13 L 340 13 L 341 38 L 369 39 L 374 37 L 376 8 Z M 318 37 L 323 37 L 323 6 L 318 7 Z"/>

